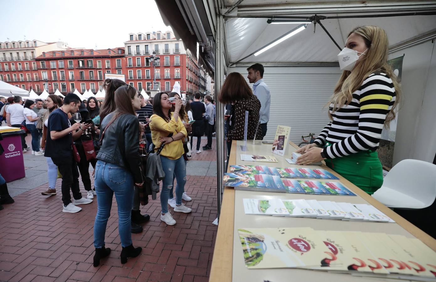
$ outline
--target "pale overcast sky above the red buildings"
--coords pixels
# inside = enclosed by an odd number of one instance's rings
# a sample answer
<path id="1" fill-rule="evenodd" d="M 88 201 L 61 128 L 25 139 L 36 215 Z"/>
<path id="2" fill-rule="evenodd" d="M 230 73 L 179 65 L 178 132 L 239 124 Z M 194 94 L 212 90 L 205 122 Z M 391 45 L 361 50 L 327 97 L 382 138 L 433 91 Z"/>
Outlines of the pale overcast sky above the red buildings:
<path id="1" fill-rule="evenodd" d="M 131 32 L 172 31 L 162 21 L 154 0 L 0 2 L 1 42 L 26 38 L 64 41 L 72 48 L 106 49 L 124 47 Z"/>

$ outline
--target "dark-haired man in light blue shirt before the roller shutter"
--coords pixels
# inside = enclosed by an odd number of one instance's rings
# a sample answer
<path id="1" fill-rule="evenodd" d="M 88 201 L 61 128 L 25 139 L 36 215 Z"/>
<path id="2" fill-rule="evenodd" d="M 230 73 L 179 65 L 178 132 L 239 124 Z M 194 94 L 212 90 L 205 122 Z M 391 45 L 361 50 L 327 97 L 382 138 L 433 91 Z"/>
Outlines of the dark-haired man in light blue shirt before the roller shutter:
<path id="1" fill-rule="evenodd" d="M 253 92 L 257 99 L 260 101 L 259 122 L 260 129 L 262 130 L 262 137 L 266 135 L 268 129 L 267 123 L 269 121 L 269 106 L 271 105 L 271 95 L 269 93 L 268 85 L 263 82 L 263 65 L 256 63 L 249 68 L 248 80 L 253 84 Z"/>

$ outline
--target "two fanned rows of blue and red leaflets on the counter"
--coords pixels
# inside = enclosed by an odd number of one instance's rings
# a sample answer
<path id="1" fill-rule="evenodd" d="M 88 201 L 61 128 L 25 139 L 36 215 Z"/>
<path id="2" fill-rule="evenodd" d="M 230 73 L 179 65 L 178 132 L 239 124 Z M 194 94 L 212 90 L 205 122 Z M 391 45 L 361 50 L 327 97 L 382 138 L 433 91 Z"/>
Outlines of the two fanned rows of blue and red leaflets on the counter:
<path id="1" fill-rule="evenodd" d="M 327 170 L 309 168 L 280 168 L 267 166 L 230 166 L 231 173 L 224 173 L 225 186 L 236 190 L 285 192 L 299 194 L 356 196 Z M 292 178 L 317 178 L 316 180 L 294 180 Z"/>

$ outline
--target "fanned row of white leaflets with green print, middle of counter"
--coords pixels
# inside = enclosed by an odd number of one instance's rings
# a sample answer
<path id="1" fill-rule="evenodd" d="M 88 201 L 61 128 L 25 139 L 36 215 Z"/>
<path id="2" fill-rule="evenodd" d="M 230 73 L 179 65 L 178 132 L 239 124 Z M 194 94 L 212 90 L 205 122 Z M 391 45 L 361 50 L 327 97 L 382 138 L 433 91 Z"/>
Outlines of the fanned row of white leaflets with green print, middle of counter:
<path id="1" fill-rule="evenodd" d="M 346 221 L 395 222 L 368 204 L 317 201 L 305 199 L 281 200 L 272 197 L 242 199 L 245 214 L 288 217 L 313 217 Z"/>

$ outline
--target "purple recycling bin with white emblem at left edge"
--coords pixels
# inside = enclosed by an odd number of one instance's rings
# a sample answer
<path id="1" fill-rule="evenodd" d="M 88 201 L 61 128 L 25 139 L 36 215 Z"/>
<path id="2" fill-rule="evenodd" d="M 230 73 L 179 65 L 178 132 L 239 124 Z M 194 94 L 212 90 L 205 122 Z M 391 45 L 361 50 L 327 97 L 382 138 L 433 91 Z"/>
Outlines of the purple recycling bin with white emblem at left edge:
<path id="1" fill-rule="evenodd" d="M 3 133 L 2 136 L 3 140 L 0 140 L 0 144 L 4 152 L 0 155 L 0 174 L 6 182 L 25 177 L 20 133 Z"/>

